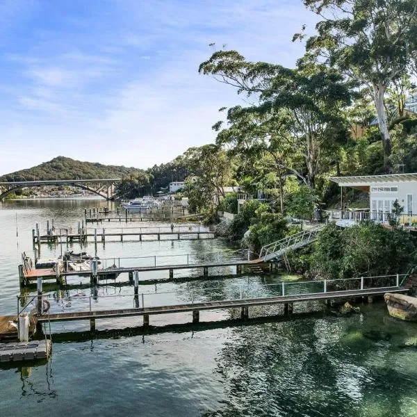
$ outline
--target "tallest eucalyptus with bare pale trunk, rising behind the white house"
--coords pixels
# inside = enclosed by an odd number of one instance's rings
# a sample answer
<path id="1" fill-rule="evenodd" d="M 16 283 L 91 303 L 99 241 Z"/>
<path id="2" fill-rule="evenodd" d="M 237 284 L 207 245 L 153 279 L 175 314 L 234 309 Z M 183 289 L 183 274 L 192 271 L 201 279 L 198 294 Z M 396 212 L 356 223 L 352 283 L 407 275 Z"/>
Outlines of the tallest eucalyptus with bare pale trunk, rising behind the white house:
<path id="1" fill-rule="evenodd" d="M 417 62 L 417 1 L 304 0 L 304 4 L 322 17 L 317 34 L 306 42 L 307 54 L 324 58 L 327 65 L 373 92 L 387 166 L 391 137 L 385 94 Z"/>

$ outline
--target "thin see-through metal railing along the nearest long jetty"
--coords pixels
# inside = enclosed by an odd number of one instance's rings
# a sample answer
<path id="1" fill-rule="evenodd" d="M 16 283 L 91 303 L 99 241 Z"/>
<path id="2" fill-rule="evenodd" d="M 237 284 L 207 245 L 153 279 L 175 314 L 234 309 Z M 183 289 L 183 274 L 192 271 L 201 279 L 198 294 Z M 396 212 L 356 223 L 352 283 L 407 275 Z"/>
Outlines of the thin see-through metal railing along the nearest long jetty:
<path id="1" fill-rule="evenodd" d="M 203 302 L 229 302 L 238 300 L 263 300 L 271 297 L 321 295 L 326 293 L 342 293 L 343 291 L 361 291 L 400 288 L 404 275 L 382 275 L 378 277 L 356 277 L 350 279 L 323 279 L 319 281 L 279 282 L 277 284 L 239 284 L 201 288 L 179 288 L 178 291 L 142 292 L 117 295 L 76 294 L 72 297 L 56 298 L 51 294 L 42 295 L 42 302 L 47 300 L 51 306 L 44 313 L 63 313 L 65 311 L 105 311 L 106 309 L 144 308 L 157 306 L 177 306 Z M 140 284 L 140 281 L 139 281 Z M 97 291 L 97 290 L 96 290 Z M 350 294 L 354 296 L 354 294 Z M 38 297 L 38 296 L 35 296 Z M 32 300 L 35 299 L 32 298 Z M 21 297 L 18 297 L 18 301 Z M 318 297 L 319 298 L 319 297 Z M 106 308 L 100 301 L 106 303 Z M 130 305 L 126 305 L 128 302 Z M 111 306 L 109 306 L 111 304 Z M 75 309 L 75 310 L 74 310 Z"/>

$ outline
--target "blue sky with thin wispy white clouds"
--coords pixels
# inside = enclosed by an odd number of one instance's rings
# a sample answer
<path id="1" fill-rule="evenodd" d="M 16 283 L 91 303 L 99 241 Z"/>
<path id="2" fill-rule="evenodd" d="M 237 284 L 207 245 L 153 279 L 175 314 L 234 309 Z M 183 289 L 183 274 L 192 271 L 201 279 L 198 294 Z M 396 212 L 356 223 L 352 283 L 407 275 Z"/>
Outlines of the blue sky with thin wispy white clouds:
<path id="1" fill-rule="evenodd" d="M 293 67 L 302 0 L 0 0 L 0 174 L 56 156 L 147 168 L 215 141 L 215 49 Z M 215 47 L 209 44 L 215 42 Z"/>

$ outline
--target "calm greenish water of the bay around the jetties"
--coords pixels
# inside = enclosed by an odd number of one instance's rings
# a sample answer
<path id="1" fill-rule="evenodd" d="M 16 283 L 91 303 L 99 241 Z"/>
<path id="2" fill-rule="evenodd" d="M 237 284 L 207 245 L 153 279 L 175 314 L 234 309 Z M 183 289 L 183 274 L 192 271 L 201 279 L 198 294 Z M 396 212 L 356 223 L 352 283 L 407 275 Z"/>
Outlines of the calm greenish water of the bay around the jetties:
<path id="1" fill-rule="evenodd" d="M 0 206 L 0 313 L 16 310 L 17 265 L 22 251 L 33 256 L 35 222 L 44 229 L 47 220 L 54 218 L 58 227 L 76 227 L 83 208 L 99 204 L 106 203 L 43 200 Z M 79 245 L 73 249 L 79 252 Z M 86 250 L 94 253 L 94 244 L 89 243 Z M 58 254 L 59 246 L 42 245 L 42 257 Z M 183 240 L 173 245 L 107 240 L 105 247 L 97 245 L 97 254 L 101 258 L 190 254 L 196 260 L 241 256 L 221 240 Z M 140 278 L 167 276 L 158 272 Z M 140 292 L 149 305 L 190 297 L 215 300 L 234 297 L 241 288 L 252 295 L 279 293 L 278 286 L 264 284 L 280 279 L 212 277 L 142 285 Z M 102 308 L 131 302 L 133 288 L 125 281 L 120 277 L 93 290 L 83 286 L 70 291 L 45 289 L 54 311 L 85 307 L 84 297 L 92 291 L 95 306 Z M 291 288 L 301 291 L 302 286 Z M 295 310 L 304 308 L 295 306 Z M 190 315 L 151 316 L 150 324 L 160 326 L 161 332 L 145 336 L 134 331 L 136 336 L 101 332 L 102 338 L 94 340 L 88 332 L 68 336 L 88 329 L 85 322 L 54 325 L 53 334 L 66 332 L 67 336 L 53 336 L 54 353 L 47 365 L 0 368 L 0 416 L 417 416 L 417 349 L 402 348 L 417 341 L 417 325 L 389 318 L 383 303 L 361 309 L 360 315 L 350 318 L 318 313 L 291 321 L 270 319 L 234 326 L 221 320 L 238 312 L 213 311 L 200 318 L 217 320 L 217 325 L 193 329 L 171 325 L 189 322 Z M 251 315 L 276 312 L 254 309 Z M 97 329 L 140 324 L 140 318 L 99 320 Z"/>

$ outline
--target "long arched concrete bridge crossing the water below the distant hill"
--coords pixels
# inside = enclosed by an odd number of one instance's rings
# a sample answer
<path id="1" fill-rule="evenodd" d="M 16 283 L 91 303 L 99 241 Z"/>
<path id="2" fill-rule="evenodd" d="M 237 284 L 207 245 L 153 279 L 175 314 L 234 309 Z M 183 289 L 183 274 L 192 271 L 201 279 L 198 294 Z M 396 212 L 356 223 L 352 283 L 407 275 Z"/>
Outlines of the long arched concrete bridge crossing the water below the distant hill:
<path id="1" fill-rule="evenodd" d="M 82 190 L 90 191 L 107 200 L 113 200 L 116 197 L 115 184 L 120 178 L 106 179 L 48 179 L 42 181 L 9 181 L 0 182 L 0 199 L 4 199 L 6 195 L 15 193 L 17 190 L 30 187 L 42 186 L 73 186 Z"/>

